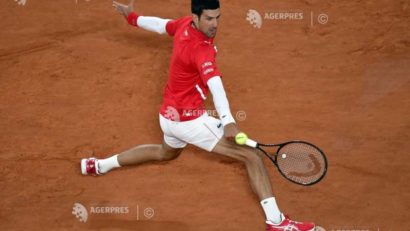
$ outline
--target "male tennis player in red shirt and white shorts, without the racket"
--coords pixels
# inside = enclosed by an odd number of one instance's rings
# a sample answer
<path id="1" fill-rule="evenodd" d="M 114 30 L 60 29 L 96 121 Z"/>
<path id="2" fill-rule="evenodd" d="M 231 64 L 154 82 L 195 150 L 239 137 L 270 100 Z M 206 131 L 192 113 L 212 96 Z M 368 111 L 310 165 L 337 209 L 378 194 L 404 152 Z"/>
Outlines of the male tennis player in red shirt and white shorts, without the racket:
<path id="1" fill-rule="evenodd" d="M 280 212 L 258 151 L 233 142 L 239 129 L 229 109 L 213 44 L 221 17 L 219 0 L 192 0 L 192 16 L 177 20 L 140 16 L 133 11 L 133 4 L 134 0 L 129 5 L 113 2 L 132 26 L 174 37 L 159 113 L 164 140 L 162 144 L 140 145 L 107 159 L 82 159 L 82 174 L 101 175 L 121 166 L 173 160 L 187 144 L 192 144 L 246 165 L 251 187 L 266 214 L 268 231 L 314 230 L 313 223 L 296 222 Z M 205 111 L 209 91 L 219 120 Z"/>

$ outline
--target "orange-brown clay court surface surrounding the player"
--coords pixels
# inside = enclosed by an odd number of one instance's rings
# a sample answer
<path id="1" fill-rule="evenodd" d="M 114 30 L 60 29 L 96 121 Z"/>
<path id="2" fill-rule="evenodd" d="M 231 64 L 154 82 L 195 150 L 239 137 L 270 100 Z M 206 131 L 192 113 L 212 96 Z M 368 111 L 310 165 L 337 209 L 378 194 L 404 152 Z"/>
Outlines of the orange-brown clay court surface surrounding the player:
<path id="1" fill-rule="evenodd" d="M 308 140 L 329 159 L 312 187 L 287 182 L 266 160 L 280 208 L 326 230 L 408 230 L 409 2 L 221 2 L 217 61 L 233 113 L 246 113 L 240 128 L 264 142 Z M 189 7 L 136 6 L 164 18 Z M 249 9 L 304 19 L 256 29 Z M 169 163 L 80 174 L 81 158 L 161 142 L 170 37 L 128 26 L 110 0 L 2 0 L 0 13 L 1 230 L 265 229 L 244 166 L 194 147 Z"/>

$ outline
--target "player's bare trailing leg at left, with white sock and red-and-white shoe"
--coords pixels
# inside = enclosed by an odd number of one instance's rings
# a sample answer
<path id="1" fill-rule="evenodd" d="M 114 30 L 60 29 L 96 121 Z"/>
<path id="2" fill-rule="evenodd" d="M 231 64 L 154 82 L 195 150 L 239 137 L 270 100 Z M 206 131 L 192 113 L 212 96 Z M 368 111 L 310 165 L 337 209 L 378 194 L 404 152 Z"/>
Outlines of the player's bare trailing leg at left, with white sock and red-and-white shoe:
<path id="1" fill-rule="evenodd" d="M 139 165 L 152 161 L 170 161 L 176 159 L 183 148 L 172 148 L 165 141 L 162 144 L 144 144 L 131 148 L 106 159 L 88 158 L 81 161 L 84 175 L 100 175 L 114 168 Z"/>

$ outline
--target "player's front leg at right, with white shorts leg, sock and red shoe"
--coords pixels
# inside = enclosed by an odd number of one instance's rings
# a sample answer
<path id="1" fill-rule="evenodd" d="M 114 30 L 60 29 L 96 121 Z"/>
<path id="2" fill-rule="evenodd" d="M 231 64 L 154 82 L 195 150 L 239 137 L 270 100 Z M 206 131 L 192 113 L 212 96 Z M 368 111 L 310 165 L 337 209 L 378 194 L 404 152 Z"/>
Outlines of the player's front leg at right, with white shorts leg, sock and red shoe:
<path id="1" fill-rule="evenodd" d="M 258 150 L 247 146 L 239 146 L 223 138 L 223 127 L 220 121 L 213 117 L 203 116 L 187 124 L 186 127 L 186 130 L 190 132 L 185 132 L 178 136 L 179 139 L 209 152 L 227 156 L 245 164 L 250 185 L 258 195 L 265 212 L 268 231 L 314 230 L 314 224 L 292 221 L 280 212 L 276 199 L 273 196 L 262 154 Z"/>

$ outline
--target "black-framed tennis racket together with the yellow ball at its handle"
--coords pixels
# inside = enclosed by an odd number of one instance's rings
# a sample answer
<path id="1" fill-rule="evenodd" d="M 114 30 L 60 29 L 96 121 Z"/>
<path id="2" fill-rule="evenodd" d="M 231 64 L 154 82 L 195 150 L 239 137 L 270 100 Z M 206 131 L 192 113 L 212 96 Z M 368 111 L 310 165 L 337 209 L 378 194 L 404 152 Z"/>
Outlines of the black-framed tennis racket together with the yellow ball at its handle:
<path id="1" fill-rule="evenodd" d="M 276 165 L 279 172 L 289 181 L 309 186 L 318 183 L 326 175 L 327 160 L 322 150 L 305 141 L 289 141 L 281 144 L 262 144 L 249 139 L 244 133 L 235 137 L 239 145 L 257 148 Z M 276 147 L 269 154 L 262 147 Z"/>

